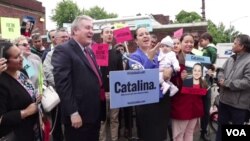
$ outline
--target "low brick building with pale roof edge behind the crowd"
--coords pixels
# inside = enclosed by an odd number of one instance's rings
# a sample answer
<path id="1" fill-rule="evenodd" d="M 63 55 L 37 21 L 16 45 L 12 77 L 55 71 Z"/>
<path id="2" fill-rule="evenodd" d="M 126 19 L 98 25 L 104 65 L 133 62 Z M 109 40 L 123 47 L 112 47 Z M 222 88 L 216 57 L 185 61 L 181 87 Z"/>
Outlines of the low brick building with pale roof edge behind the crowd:
<path id="1" fill-rule="evenodd" d="M 183 28 L 183 33 L 197 33 L 199 36 L 201 33 L 207 31 L 207 22 L 197 22 L 197 23 L 180 23 L 173 24 L 169 20 L 169 16 L 164 15 L 145 15 L 145 16 L 134 16 L 134 17 L 125 17 L 125 18 L 113 18 L 113 19 L 102 19 L 94 21 L 94 41 L 101 43 L 101 38 L 99 33 L 101 32 L 102 27 L 109 25 L 114 26 L 116 23 L 122 23 L 130 27 L 132 34 L 136 30 L 136 22 L 140 20 L 150 21 L 152 24 L 152 32 L 158 38 L 158 41 L 161 41 L 167 35 L 173 36 L 174 32 L 180 28 Z M 115 41 L 114 41 L 115 44 Z M 128 42 L 129 52 L 136 50 L 136 44 L 133 40 Z"/>

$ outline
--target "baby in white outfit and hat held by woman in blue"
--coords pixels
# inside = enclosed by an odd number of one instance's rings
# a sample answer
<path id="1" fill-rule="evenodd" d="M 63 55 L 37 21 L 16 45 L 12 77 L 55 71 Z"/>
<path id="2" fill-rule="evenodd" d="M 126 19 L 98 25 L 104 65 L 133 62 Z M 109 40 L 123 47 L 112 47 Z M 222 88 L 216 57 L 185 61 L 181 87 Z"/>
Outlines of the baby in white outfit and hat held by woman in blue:
<path id="1" fill-rule="evenodd" d="M 166 36 L 161 40 L 160 53 L 158 56 L 161 89 L 163 94 L 165 94 L 170 88 L 170 96 L 175 95 L 179 90 L 173 83 L 170 82 L 170 79 L 163 79 L 164 68 L 173 67 L 174 71 L 180 71 L 180 66 L 176 58 L 176 54 L 172 51 L 173 46 L 173 40 L 171 39 L 171 37 Z"/>

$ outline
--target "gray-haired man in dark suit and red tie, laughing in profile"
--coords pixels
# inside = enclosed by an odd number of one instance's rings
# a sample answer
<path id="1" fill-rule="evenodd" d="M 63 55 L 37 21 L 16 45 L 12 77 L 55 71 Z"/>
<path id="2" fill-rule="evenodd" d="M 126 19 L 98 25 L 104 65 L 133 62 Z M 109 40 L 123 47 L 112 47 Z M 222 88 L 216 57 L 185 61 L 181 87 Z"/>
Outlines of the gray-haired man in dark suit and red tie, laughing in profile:
<path id="1" fill-rule="evenodd" d="M 61 99 L 66 141 L 99 139 L 100 71 L 93 52 L 93 20 L 78 16 L 72 23 L 72 39 L 55 48 L 52 56 L 56 90 Z"/>

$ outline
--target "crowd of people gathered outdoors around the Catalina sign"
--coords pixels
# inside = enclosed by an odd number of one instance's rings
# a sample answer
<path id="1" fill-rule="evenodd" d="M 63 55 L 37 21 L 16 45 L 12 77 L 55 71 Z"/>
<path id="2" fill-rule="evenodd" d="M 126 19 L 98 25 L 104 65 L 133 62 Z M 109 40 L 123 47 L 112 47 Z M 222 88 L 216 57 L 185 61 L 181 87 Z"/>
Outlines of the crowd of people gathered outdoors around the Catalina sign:
<path id="1" fill-rule="evenodd" d="M 49 118 L 53 141 L 118 141 L 122 121 L 123 135 L 131 137 L 134 127 L 142 141 L 164 141 L 167 137 L 193 141 L 197 130 L 202 140 L 213 140 L 207 131 L 211 107 L 208 88 L 214 84 L 217 49 L 209 33 L 200 37 L 185 33 L 181 38 L 166 36 L 158 41 L 147 28 L 139 27 L 134 32 L 137 48 L 129 53 L 126 45 L 114 44 L 113 28 L 104 26 L 100 38 L 108 44 L 108 66 L 101 67 L 92 50 L 96 42 L 92 39 L 93 19 L 88 16 L 73 21 L 71 34 L 65 29 L 49 31 L 49 47 L 43 46 L 41 34 L 29 35 L 31 42 L 25 35 L 12 42 L 0 41 L 0 140 L 49 141 L 47 125 L 43 124 Z M 193 48 L 201 50 L 211 63 L 195 63 L 190 71 L 185 65 L 186 55 L 195 55 Z M 223 125 L 243 125 L 249 120 L 250 37 L 238 35 L 232 51 L 234 55 L 223 65 L 223 77 L 218 80 L 216 141 L 222 140 Z M 110 71 L 158 68 L 158 103 L 110 108 Z M 44 113 L 40 104 L 41 73 L 43 84 L 54 87 L 61 100 L 50 113 Z M 205 89 L 206 93 L 184 91 L 187 87 Z M 131 123 L 134 113 L 136 125 Z"/>

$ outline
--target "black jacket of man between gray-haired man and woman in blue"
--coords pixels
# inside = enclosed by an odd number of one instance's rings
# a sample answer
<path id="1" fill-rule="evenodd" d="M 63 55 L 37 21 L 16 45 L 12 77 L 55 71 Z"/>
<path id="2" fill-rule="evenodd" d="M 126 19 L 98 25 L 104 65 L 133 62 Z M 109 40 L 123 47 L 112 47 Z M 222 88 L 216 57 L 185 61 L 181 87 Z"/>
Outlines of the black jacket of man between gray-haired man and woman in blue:
<path id="1" fill-rule="evenodd" d="M 103 86 L 104 86 L 105 92 L 109 92 L 109 77 L 108 77 L 109 72 L 116 71 L 116 70 L 123 70 L 122 54 L 116 49 L 111 49 L 109 50 L 108 66 L 101 67 Z"/>

